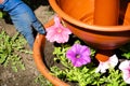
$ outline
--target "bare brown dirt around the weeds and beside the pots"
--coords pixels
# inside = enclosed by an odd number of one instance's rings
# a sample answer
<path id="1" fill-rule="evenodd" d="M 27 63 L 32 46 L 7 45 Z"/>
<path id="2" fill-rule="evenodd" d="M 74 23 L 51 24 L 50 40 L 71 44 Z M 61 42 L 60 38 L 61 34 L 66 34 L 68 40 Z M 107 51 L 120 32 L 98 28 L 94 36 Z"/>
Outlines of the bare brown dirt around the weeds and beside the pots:
<path id="1" fill-rule="evenodd" d="M 50 11 L 50 6 L 48 4 L 39 5 L 34 12 L 42 24 L 46 24 L 53 15 L 53 12 Z M 16 32 L 14 26 L 5 23 L 4 19 L 0 19 L 0 29 L 2 28 L 4 28 L 10 35 L 13 35 Z M 47 47 L 47 55 L 49 55 L 52 45 L 49 44 Z M 29 49 L 28 44 L 26 48 Z M 41 86 L 35 83 L 35 78 L 38 77 L 40 72 L 35 64 L 32 55 L 22 54 L 22 60 L 26 70 L 18 70 L 17 73 L 10 67 L 4 68 L 0 64 L 0 86 Z"/>

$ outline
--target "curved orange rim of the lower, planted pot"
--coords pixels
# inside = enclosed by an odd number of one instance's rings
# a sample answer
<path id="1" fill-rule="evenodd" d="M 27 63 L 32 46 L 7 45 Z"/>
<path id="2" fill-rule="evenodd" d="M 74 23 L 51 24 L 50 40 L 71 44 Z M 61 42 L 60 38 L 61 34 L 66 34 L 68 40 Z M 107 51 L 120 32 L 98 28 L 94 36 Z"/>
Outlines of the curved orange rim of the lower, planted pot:
<path id="1" fill-rule="evenodd" d="M 54 24 L 54 20 L 51 19 L 49 23 L 44 25 L 46 28 L 52 26 Z M 35 60 L 35 63 L 40 71 L 40 73 L 48 80 L 50 81 L 54 86 L 69 86 L 67 83 L 63 82 L 58 77 L 54 76 L 51 74 L 49 69 L 47 68 L 43 59 L 43 48 L 46 45 L 46 35 L 43 34 L 37 34 L 35 42 L 34 42 L 34 47 L 32 47 L 32 57 Z"/>

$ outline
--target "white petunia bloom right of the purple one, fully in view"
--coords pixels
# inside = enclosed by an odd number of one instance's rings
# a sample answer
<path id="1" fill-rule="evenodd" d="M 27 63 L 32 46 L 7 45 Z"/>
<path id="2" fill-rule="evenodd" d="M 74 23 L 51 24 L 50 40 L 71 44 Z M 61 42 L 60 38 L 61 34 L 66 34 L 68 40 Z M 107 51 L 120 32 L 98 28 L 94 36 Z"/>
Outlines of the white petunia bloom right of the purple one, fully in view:
<path id="1" fill-rule="evenodd" d="M 118 58 L 116 55 L 113 55 L 112 57 L 109 57 L 107 61 L 105 62 L 100 61 L 100 64 L 96 68 L 95 72 L 105 73 L 107 69 L 115 68 L 117 63 L 118 63 Z"/>

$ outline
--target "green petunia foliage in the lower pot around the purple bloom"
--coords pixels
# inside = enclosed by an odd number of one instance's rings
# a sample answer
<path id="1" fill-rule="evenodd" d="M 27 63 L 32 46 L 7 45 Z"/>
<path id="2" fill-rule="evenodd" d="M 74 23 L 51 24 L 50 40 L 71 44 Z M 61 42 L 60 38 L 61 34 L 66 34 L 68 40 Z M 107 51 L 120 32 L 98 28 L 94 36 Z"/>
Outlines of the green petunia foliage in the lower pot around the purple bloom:
<path id="1" fill-rule="evenodd" d="M 75 43 L 81 43 L 80 41 L 75 41 Z M 62 44 L 54 47 L 53 55 L 54 61 L 58 60 L 62 68 L 54 66 L 51 68 L 53 75 L 65 82 L 76 82 L 78 86 L 126 86 L 121 77 L 121 72 L 119 69 L 109 69 L 104 73 L 95 73 L 98 64 L 94 62 L 93 56 L 95 49 L 91 48 L 92 62 L 79 68 L 73 67 L 70 61 L 66 58 L 66 51 L 70 48 L 69 43 Z"/>

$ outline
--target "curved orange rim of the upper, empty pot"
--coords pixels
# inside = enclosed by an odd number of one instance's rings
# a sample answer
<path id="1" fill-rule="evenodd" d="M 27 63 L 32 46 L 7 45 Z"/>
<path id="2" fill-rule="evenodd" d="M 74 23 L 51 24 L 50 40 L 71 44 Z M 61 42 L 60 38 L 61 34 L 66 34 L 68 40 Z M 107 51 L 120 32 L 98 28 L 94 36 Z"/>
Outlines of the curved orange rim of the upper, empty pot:
<path id="1" fill-rule="evenodd" d="M 60 15 L 63 19 L 67 20 L 68 23 L 73 22 L 74 25 L 77 25 L 84 29 L 90 29 L 90 30 L 95 30 L 95 31 L 128 31 L 130 30 L 130 26 L 122 26 L 122 25 L 119 25 L 119 26 L 87 25 L 80 20 L 77 20 L 70 17 L 65 12 L 63 12 L 62 9 L 57 5 L 56 0 L 49 0 L 49 3 L 52 6 L 52 9 L 57 13 L 57 15 Z"/>

